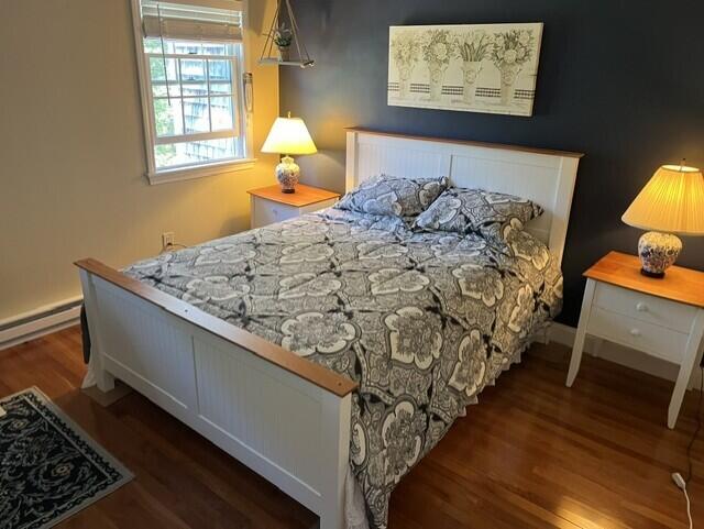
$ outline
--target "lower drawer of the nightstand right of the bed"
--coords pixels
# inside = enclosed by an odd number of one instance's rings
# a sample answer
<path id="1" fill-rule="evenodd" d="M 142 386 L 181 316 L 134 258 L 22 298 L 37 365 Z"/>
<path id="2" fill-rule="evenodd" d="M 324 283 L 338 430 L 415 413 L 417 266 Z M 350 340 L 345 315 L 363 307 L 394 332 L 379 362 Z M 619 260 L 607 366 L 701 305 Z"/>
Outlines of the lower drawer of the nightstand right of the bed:
<path id="1" fill-rule="evenodd" d="M 601 307 L 592 309 L 587 332 L 676 363 L 682 361 L 689 339 L 686 332 L 648 323 Z"/>

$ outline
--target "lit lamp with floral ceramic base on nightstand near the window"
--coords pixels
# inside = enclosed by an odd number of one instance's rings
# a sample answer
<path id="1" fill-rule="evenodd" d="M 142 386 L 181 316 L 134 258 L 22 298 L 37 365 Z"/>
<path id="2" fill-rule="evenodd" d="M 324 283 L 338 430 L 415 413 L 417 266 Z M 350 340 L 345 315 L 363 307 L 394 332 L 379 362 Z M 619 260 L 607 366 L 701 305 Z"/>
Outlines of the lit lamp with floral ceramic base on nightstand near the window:
<path id="1" fill-rule="evenodd" d="M 288 112 L 287 118 L 276 118 L 262 152 L 284 155 L 282 163 L 276 166 L 276 179 L 282 186 L 282 192 L 296 192 L 300 167 L 289 154 L 316 154 L 318 150 L 304 120 L 292 118 Z"/>

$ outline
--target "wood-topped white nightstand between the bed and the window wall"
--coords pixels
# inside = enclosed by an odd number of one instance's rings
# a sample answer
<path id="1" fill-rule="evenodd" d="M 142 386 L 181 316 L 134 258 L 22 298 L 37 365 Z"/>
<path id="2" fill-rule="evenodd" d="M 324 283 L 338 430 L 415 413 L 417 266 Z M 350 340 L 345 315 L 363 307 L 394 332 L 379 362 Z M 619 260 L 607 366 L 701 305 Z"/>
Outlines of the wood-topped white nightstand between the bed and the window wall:
<path id="1" fill-rule="evenodd" d="M 282 192 L 278 185 L 250 189 L 248 192 L 252 206 L 252 229 L 329 208 L 340 199 L 339 192 L 302 184 L 296 186 L 296 192 L 289 194 Z"/>

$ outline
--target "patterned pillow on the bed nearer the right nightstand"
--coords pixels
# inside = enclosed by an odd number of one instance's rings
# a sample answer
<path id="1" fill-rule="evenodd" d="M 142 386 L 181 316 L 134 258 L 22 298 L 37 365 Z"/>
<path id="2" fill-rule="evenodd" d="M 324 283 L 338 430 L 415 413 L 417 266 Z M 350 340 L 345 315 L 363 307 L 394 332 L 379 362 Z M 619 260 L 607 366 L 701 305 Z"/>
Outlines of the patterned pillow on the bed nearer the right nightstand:
<path id="1" fill-rule="evenodd" d="M 459 233 L 473 231 L 501 242 L 505 240 L 507 227 L 522 229 L 525 223 L 541 214 L 542 208 L 525 198 L 451 187 L 416 219 L 414 227 Z"/>

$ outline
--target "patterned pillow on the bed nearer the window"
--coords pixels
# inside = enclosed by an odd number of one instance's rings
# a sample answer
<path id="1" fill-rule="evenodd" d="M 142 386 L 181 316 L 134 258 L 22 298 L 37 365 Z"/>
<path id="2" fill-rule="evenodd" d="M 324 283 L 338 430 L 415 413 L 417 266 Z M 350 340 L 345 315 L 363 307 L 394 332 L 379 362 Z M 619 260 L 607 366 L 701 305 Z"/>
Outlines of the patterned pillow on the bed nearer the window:
<path id="1" fill-rule="evenodd" d="M 411 180 L 380 175 L 348 192 L 336 208 L 361 213 L 416 217 L 448 187 L 447 177 Z"/>

